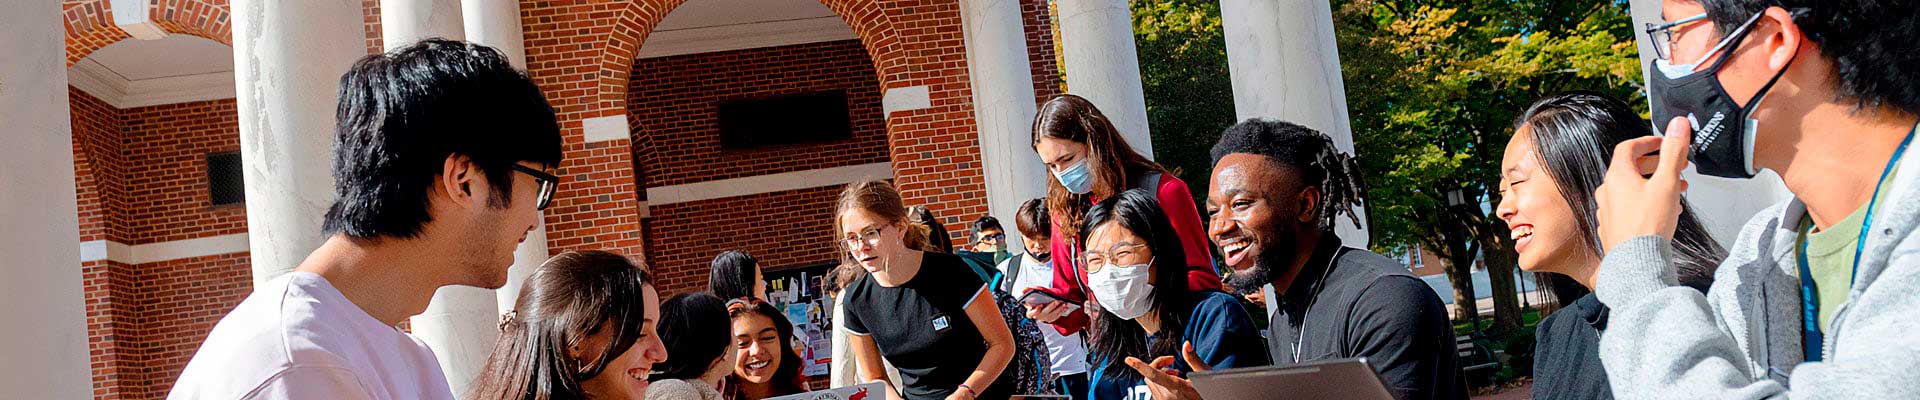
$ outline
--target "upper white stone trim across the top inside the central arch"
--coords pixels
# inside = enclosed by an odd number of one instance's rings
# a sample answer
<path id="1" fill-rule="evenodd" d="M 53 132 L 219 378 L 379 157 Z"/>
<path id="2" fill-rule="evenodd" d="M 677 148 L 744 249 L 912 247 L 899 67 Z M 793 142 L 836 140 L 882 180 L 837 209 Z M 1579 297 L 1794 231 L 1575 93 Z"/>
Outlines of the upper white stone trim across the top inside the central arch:
<path id="1" fill-rule="evenodd" d="M 745 48 L 860 38 L 839 15 L 758 21 L 716 27 L 666 29 L 647 35 L 636 58 L 664 58 Z"/>

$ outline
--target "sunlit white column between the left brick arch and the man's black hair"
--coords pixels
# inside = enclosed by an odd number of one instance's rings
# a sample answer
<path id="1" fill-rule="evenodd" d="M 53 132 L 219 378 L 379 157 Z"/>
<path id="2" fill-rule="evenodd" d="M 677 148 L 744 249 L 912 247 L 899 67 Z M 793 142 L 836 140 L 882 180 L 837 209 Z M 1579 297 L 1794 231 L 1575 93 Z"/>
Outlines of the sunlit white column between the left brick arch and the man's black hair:
<path id="1" fill-rule="evenodd" d="M 326 240 L 340 75 L 367 54 L 359 0 L 234 0 L 234 83 L 253 285 Z"/>

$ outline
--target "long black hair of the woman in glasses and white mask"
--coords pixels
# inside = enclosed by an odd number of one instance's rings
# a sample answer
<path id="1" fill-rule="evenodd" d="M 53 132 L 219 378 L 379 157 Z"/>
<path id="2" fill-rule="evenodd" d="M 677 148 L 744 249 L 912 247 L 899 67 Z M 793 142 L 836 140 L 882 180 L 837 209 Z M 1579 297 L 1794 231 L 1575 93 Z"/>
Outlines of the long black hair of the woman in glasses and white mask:
<path id="1" fill-rule="evenodd" d="M 1100 310 L 1092 321 L 1091 360 L 1112 371 L 1114 377 L 1131 381 L 1139 379 L 1140 373 L 1127 367 L 1123 360 L 1173 356 L 1185 340 L 1187 317 L 1192 313 L 1185 300 L 1187 252 L 1173 233 L 1173 223 L 1167 223 L 1167 213 L 1160 210 L 1160 202 L 1146 188 L 1131 188 L 1094 204 L 1092 210 L 1087 210 L 1081 233 L 1092 233 L 1108 223 L 1140 237 L 1154 252 L 1154 288 L 1148 296 L 1154 304 L 1150 313 L 1160 315 L 1160 335 L 1148 342 L 1146 329 L 1106 310 Z M 1087 248 L 1087 237 L 1092 235 L 1081 235 L 1081 248 Z"/>

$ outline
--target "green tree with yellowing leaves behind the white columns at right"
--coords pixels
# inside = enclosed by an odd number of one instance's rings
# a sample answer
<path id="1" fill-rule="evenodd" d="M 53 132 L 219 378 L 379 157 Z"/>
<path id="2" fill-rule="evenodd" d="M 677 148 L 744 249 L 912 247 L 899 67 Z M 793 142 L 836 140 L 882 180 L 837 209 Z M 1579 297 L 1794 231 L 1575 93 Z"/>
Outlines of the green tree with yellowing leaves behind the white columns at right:
<path id="1" fill-rule="evenodd" d="M 1332 0 L 1348 110 L 1367 171 L 1373 250 L 1448 263 L 1455 304 L 1484 254 L 1496 331 L 1521 325 L 1515 254 L 1492 215 L 1513 117 L 1549 92 L 1644 104 L 1626 2 Z M 1235 123 L 1217 0 L 1135 0 L 1135 40 L 1160 163 L 1204 200 L 1208 146 Z M 1450 204 L 1448 194 L 1459 202 Z"/>

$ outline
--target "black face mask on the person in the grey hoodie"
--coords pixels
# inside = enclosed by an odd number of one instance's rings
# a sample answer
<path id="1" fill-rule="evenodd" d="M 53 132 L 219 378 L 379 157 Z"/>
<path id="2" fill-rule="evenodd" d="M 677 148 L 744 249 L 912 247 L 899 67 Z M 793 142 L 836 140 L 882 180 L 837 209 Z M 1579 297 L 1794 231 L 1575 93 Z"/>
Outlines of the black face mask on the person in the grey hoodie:
<path id="1" fill-rule="evenodd" d="M 1766 79 L 1766 85 L 1753 94 L 1753 100 L 1741 108 L 1730 94 L 1726 87 L 1720 85 L 1720 67 L 1732 58 L 1734 50 L 1747 37 L 1749 27 L 1761 19 L 1755 13 L 1745 25 L 1728 35 L 1715 52 L 1713 65 L 1705 71 L 1693 71 L 1693 65 L 1670 65 L 1665 60 L 1653 60 L 1647 75 L 1647 92 L 1651 96 L 1653 129 L 1665 135 L 1667 123 L 1674 117 L 1686 117 L 1693 127 L 1693 165 L 1699 173 L 1715 177 L 1738 177 L 1749 179 L 1757 169 L 1753 169 L 1753 129 L 1749 123 L 1753 110 L 1766 96 L 1766 90 L 1774 88 L 1774 83 L 1786 75 L 1786 67 Z M 1665 65 L 1663 65 L 1665 63 Z M 1788 60 L 1788 67 L 1793 62 Z M 1686 71 L 1680 77 L 1668 77 L 1667 71 Z"/>

